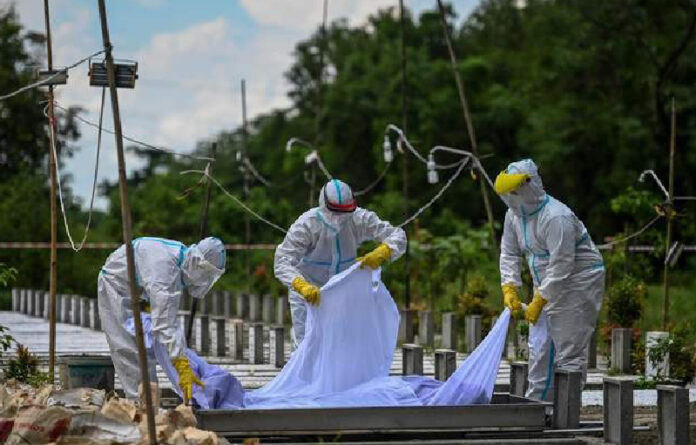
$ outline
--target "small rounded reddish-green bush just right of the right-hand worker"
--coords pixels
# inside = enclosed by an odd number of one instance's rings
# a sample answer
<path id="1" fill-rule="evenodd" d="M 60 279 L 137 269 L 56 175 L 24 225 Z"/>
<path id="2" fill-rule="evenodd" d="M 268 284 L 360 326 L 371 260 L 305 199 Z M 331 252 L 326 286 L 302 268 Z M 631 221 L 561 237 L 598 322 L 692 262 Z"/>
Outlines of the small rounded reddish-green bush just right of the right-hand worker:
<path id="1" fill-rule="evenodd" d="M 631 276 L 614 283 L 606 295 L 607 321 L 614 327 L 630 328 L 640 319 L 645 285 Z"/>

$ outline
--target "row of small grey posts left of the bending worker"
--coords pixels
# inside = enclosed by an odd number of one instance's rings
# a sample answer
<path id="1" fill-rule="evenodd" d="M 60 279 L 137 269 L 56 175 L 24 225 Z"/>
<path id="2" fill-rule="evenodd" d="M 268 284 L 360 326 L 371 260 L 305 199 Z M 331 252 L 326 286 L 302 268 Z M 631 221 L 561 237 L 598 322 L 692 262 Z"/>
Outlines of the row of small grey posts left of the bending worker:
<path id="1" fill-rule="evenodd" d="M 46 320 L 50 317 L 51 294 L 43 290 L 12 289 L 12 311 Z M 101 331 L 99 306 L 94 298 L 56 294 L 56 321 Z"/>

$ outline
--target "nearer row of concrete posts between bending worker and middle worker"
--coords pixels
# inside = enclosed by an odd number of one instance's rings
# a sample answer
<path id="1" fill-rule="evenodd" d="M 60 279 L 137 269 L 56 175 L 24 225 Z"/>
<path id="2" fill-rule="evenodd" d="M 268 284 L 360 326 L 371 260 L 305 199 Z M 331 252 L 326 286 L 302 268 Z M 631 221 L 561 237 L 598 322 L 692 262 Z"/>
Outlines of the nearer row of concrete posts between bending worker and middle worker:
<path id="1" fill-rule="evenodd" d="M 179 324 L 188 326 L 189 311 L 179 311 Z M 189 347 L 204 356 L 231 357 L 244 361 L 245 339 L 248 362 L 252 364 L 270 363 L 276 368 L 285 364 L 285 326 L 250 322 L 224 315 L 197 313 L 191 332 Z M 264 341 L 268 339 L 268 361 L 264 356 Z M 213 341 L 214 340 L 214 341 Z"/>

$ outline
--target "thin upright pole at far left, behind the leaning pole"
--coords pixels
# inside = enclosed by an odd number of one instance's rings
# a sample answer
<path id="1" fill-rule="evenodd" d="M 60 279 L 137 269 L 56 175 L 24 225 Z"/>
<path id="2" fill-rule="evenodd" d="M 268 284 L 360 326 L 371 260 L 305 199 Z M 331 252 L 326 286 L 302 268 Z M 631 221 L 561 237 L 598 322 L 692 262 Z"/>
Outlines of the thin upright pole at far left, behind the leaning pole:
<path id="1" fill-rule="evenodd" d="M 44 0 L 44 19 L 46 22 L 46 55 L 48 58 L 49 72 L 53 69 L 53 47 L 51 43 L 51 17 L 48 10 L 48 0 Z M 56 204 L 56 188 L 58 187 L 56 179 L 56 164 L 58 155 L 56 150 L 55 156 L 53 147 L 56 144 L 54 140 L 57 136 L 58 129 L 56 128 L 55 110 L 53 108 L 53 85 L 48 86 L 48 124 L 51 141 L 48 147 L 49 159 L 49 175 L 51 177 L 51 262 L 50 262 L 50 278 L 49 278 L 49 330 L 48 330 L 48 378 L 53 382 L 56 366 L 56 291 L 58 288 L 58 207 Z"/>

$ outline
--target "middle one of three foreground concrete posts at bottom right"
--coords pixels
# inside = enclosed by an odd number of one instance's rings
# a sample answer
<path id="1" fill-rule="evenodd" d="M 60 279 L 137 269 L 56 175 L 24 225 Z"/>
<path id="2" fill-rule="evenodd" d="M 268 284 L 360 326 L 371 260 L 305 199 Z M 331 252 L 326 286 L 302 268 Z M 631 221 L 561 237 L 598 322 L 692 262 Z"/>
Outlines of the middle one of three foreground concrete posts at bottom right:
<path id="1" fill-rule="evenodd" d="M 629 445 L 632 436 L 633 379 L 604 377 L 604 442 Z"/>

